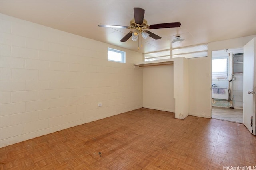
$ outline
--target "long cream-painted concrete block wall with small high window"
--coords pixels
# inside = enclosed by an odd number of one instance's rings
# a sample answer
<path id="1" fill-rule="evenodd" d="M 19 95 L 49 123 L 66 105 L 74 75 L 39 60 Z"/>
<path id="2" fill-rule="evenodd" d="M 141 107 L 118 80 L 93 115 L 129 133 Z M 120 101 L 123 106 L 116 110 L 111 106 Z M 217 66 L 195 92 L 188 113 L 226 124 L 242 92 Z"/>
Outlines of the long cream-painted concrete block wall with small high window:
<path id="1" fill-rule="evenodd" d="M 140 53 L 2 14 L 0 31 L 0 147 L 142 107 Z"/>

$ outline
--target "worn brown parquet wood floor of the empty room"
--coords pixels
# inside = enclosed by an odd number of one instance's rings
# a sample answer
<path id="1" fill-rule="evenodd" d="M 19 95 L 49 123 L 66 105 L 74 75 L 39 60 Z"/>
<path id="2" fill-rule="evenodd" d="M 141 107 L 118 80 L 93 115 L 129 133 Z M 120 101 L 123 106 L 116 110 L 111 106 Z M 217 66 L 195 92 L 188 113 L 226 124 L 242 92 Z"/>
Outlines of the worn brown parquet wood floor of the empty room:
<path id="1" fill-rule="evenodd" d="M 239 123 L 137 109 L 0 149 L 1 170 L 214 170 L 256 165 Z"/>

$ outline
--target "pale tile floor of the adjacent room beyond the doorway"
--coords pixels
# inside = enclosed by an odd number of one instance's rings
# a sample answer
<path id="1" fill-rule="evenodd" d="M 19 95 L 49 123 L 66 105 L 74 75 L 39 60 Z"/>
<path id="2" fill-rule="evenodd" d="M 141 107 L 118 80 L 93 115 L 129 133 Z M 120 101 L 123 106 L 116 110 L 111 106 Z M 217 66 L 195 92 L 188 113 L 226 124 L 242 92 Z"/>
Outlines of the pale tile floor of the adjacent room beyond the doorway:
<path id="1" fill-rule="evenodd" d="M 243 110 L 223 107 L 212 107 L 212 118 L 243 123 Z"/>

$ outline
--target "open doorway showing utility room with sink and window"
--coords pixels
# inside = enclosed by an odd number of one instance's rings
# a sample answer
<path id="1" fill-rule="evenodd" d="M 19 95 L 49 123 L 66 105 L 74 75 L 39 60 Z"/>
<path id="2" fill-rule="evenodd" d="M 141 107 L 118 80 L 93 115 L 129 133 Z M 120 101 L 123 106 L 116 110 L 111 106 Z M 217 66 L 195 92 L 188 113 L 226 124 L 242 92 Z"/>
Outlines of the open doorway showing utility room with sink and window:
<path id="1" fill-rule="evenodd" d="M 212 51 L 212 118 L 243 123 L 243 48 Z"/>

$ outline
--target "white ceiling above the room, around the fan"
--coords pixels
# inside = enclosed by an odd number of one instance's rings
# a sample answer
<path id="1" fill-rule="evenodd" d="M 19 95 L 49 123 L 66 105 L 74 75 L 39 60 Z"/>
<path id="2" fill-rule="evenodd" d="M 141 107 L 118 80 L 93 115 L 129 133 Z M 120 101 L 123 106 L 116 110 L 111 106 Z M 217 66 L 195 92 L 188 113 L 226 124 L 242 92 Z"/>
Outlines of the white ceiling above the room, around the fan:
<path id="1" fill-rule="evenodd" d="M 131 38 L 120 42 L 130 29 L 133 8 L 145 9 L 150 24 L 177 22 L 179 28 L 152 29 L 162 39 L 148 37 L 138 50 Z M 256 35 L 256 0 L 1 0 L 0 12 L 140 53 Z M 171 43 L 180 35 L 182 43 Z"/>

